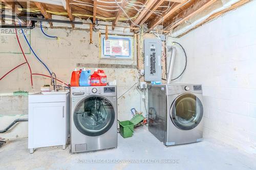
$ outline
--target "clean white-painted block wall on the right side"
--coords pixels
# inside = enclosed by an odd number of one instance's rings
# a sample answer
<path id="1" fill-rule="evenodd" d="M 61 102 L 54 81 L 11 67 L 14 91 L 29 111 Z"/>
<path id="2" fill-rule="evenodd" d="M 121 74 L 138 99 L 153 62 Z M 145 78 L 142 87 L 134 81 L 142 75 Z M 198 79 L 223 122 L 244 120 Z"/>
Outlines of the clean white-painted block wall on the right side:
<path id="1" fill-rule="evenodd" d="M 181 38 L 188 65 L 180 83 L 203 85 L 204 136 L 256 153 L 256 1 Z M 184 67 L 179 48 L 174 77 Z"/>

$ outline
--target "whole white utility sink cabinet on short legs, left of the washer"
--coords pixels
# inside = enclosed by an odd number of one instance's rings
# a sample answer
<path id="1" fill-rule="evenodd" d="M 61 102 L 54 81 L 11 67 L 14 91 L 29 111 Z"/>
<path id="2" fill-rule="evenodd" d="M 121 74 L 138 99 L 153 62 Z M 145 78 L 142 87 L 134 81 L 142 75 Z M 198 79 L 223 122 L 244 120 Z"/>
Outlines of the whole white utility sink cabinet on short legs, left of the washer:
<path id="1" fill-rule="evenodd" d="M 41 147 L 62 145 L 70 134 L 70 92 L 29 95 L 30 153 Z"/>

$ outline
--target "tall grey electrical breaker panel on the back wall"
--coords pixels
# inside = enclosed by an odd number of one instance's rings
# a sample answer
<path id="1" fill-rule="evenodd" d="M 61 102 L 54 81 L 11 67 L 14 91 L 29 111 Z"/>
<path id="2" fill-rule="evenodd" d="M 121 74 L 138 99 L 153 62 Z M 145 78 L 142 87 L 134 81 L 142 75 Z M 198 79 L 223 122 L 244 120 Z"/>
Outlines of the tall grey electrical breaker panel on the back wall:
<path id="1" fill-rule="evenodd" d="M 161 81 L 161 40 L 144 39 L 144 74 L 145 81 Z"/>

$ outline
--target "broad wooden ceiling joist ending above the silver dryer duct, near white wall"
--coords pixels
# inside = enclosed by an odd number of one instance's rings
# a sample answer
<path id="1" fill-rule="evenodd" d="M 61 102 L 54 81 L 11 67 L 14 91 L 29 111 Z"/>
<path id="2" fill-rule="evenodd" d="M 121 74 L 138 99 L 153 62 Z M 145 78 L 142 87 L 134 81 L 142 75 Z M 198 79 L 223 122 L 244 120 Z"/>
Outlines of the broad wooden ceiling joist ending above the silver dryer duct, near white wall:
<path id="1" fill-rule="evenodd" d="M 168 30 L 172 30 L 178 25 L 180 25 L 182 22 L 186 21 L 189 17 L 198 14 L 205 8 L 209 7 L 213 3 L 215 3 L 217 0 L 200 0 L 197 1 L 195 4 L 193 4 L 191 7 L 187 8 L 186 10 L 179 13 L 177 16 L 175 16 L 170 21 L 166 22 L 164 27 L 168 27 Z"/>

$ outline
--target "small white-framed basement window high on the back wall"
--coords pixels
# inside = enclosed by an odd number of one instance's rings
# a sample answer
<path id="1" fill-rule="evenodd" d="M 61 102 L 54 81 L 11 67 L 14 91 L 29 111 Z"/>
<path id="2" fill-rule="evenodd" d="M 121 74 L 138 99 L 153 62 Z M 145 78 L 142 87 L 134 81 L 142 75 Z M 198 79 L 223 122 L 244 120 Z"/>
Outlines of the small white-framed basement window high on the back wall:
<path id="1" fill-rule="evenodd" d="M 101 35 L 101 58 L 132 59 L 133 37 Z"/>

